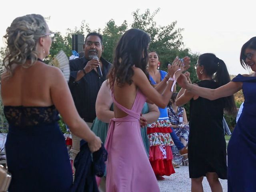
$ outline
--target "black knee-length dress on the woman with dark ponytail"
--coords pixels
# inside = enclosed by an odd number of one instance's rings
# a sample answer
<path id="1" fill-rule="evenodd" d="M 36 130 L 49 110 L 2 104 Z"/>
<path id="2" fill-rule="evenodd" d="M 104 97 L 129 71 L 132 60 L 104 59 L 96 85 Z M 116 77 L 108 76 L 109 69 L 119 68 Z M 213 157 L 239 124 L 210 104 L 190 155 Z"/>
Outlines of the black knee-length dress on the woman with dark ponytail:
<path id="1" fill-rule="evenodd" d="M 218 84 L 202 80 L 198 86 L 215 89 Z M 188 142 L 189 176 L 199 178 L 207 172 L 216 172 L 227 178 L 226 140 L 223 129 L 224 100 L 202 97 L 190 100 L 190 134 Z"/>

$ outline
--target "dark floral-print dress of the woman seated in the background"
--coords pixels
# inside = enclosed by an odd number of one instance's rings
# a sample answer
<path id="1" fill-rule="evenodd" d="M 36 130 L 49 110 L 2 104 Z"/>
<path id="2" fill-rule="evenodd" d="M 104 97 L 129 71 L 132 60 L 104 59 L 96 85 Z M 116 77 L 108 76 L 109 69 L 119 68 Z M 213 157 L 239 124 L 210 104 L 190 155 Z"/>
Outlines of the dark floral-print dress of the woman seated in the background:
<path id="1" fill-rule="evenodd" d="M 183 107 L 178 107 L 177 113 L 174 112 L 172 106 L 167 106 L 168 117 L 172 125 L 178 125 L 180 122 L 180 117 L 183 117 Z M 189 125 L 185 125 L 183 128 L 173 128 L 174 132 L 178 136 L 179 139 L 183 138 L 188 142 L 188 135 L 189 135 Z M 175 164 L 182 163 L 182 156 L 180 156 L 178 148 L 174 145 L 172 146 L 172 154 L 173 154 L 173 162 Z"/>

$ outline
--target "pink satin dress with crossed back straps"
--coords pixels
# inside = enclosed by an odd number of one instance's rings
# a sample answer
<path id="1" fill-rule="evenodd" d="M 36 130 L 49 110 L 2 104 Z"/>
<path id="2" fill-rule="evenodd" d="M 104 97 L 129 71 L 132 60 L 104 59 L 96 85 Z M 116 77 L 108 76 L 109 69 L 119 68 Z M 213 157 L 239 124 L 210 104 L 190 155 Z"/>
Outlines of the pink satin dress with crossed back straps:
<path id="1" fill-rule="evenodd" d="M 132 109 L 118 104 L 127 116 L 110 121 L 105 148 L 108 151 L 106 192 L 160 192 L 140 134 L 140 113 L 146 97 L 137 91 Z"/>

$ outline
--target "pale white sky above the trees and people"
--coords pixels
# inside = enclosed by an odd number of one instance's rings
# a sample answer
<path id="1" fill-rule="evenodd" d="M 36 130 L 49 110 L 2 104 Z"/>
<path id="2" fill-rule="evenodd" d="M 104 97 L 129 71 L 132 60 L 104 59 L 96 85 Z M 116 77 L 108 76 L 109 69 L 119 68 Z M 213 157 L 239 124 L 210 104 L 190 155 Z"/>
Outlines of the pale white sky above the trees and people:
<path id="1" fill-rule="evenodd" d="M 65 34 L 67 28 L 80 27 L 82 20 L 91 29 L 103 29 L 110 19 L 118 26 L 124 20 L 130 25 L 135 10 L 144 13 L 149 9 L 152 13 L 157 8 L 156 24 L 166 26 L 177 21 L 176 27 L 184 28 L 184 46 L 192 53 L 216 54 L 232 75 L 250 72 L 242 68 L 239 57 L 242 45 L 256 36 L 256 0 L 0 0 L 0 47 L 4 46 L 6 28 L 26 14 L 50 16 L 50 30 Z"/>

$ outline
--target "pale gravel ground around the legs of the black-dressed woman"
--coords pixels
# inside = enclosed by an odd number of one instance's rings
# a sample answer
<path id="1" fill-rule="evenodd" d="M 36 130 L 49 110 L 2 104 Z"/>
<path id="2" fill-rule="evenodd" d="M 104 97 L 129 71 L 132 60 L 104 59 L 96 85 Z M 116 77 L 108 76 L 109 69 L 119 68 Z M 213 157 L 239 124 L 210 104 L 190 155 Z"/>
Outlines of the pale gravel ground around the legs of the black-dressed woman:
<path id="1" fill-rule="evenodd" d="M 164 176 L 164 181 L 158 181 L 161 192 L 190 192 L 191 180 L 188 174 L 188 166 L 180 166 L 175 169 L 175 174 L 171 176 Z M 220 179 L 223 192 L 228 191 L 227 180 Z M 210 186 L 206 177 L 203 180 L 204 192 L 211 192 Z"/>

